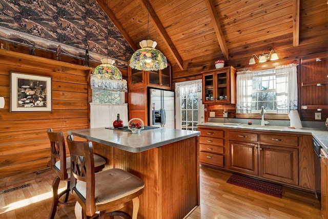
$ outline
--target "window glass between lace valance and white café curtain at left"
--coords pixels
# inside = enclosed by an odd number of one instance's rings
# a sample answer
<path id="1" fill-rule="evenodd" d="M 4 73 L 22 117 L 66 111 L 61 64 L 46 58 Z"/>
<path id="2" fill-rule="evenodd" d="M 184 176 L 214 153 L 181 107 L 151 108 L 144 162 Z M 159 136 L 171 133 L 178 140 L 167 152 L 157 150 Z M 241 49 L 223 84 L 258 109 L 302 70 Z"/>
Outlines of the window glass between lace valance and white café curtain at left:
<path id="1" fill-rule="evenodd" d="M 125 93 L 105 89 L 92 89 L 92 103 L 96 104 L 124 104 Z"/>

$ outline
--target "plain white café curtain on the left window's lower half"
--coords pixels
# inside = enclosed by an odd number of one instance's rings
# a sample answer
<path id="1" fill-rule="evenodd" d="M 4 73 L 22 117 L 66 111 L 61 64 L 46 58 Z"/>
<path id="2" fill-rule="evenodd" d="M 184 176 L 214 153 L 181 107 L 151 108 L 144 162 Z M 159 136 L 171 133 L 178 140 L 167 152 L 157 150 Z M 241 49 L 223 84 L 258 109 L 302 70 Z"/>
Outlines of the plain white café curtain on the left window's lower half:
<path id="1" fill-rule="evenodd" d="M 128 104 L 96 104 L 90 103 L 90 128 L 112 127 L 119 114 L 123 124 L 128 125 Z"/>

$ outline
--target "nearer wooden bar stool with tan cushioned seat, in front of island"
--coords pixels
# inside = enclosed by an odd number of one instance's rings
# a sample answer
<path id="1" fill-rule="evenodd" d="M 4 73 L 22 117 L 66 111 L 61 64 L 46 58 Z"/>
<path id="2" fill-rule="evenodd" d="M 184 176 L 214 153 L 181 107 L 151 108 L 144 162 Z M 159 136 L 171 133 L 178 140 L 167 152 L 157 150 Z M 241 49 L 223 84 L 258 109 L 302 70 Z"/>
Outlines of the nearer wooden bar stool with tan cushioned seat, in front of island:
<path id="1" fill-rule="evenodd" d="M 75 211 L 76 217 L 93 218 L 99 214 L 99 219 L 105 219 L 106 215 L 131 218 L 128 213 L 118 210 L 132 200 L 132 218 L 136 219 L 138 196 L 144 190 L 144 182 L 121 169 L 95 173 L 92 143 L 73 141 L 72 137 L 67 136 L 66 141 L 71 154 L 71 188 L 76 205 L 81 208 L 81 211 Z"/>

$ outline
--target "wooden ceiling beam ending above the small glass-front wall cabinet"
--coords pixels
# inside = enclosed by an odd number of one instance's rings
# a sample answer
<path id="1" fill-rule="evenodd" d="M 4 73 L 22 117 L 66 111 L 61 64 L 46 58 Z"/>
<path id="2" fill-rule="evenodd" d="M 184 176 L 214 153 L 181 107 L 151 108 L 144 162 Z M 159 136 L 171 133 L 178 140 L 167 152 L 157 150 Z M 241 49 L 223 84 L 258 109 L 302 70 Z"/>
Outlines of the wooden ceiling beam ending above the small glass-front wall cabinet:
<path id="1" fill-rule="evenodd" d="M 213 27 L 215 30 L 215 34 L 216 34 L 217 40 L 219 41 L 219 45 L 220 45 L 223 57 L 224 57 L 224 59 L 226 59 L 228 61 L 229 60 L 228 47 L 227 47 L 226 41 L 224 40 L 223 32 L 222 32 L 221 25 L 220 25 L 220 19 L 216 13 L 214 3 L 212 0 L 204 0 L 204 2 L 206 4 L 206 7 L 208 8 L 208 11 L 209 11 L 212 23 L 213 23 Z"/>

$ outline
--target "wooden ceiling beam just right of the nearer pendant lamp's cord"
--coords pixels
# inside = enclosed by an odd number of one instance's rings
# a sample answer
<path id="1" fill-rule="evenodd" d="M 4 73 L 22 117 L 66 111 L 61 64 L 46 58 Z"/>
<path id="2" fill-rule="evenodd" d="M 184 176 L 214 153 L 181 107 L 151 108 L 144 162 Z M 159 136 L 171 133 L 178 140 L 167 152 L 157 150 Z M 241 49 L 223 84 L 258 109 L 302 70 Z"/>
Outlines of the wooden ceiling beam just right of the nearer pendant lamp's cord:
<path id="1" fill-rule="evenodd" d="M 148 11 L 148 2 L 147 0 L 139 0 L 142 7 L 145 8 L 146 11 Z M 162 37 L 164 43 L 167 45 L 168 49 L 170 50 L 173 58 L 177 62 L 178 66 L 181 70 L 183 70 L 183 61 L 178 53 L 178 50 L 175 48 L 173 42 L 171 41 L 171 38 L 169 34 L 166 32 L 165 28 L 163 27 L 162 23 L 159 21 L 158 16 L 156 15 L 153 7 L 149 4 L 149 17 L 151 21 L 153 22 L 157 32 Z"/>

